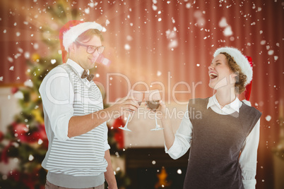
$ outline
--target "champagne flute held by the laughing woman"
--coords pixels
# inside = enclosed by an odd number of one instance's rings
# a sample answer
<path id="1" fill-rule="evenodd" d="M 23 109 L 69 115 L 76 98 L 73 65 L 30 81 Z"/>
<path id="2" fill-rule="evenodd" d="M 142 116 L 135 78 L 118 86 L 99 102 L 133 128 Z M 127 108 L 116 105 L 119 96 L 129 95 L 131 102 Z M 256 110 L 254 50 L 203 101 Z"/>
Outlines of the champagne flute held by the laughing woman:
<path id="1" fill-rule="evenodd" d="M 152 111 L 156 111 L 160 106 L 160 92 L 159 90 L 150 90 L 145 92 L 145 101 L 148 109 Z M 157 112 L 155 112 L 155 122 L 156 127 L 151 130 L 162 130 L 164 128 L 160 128 L 157 122 Z"/>

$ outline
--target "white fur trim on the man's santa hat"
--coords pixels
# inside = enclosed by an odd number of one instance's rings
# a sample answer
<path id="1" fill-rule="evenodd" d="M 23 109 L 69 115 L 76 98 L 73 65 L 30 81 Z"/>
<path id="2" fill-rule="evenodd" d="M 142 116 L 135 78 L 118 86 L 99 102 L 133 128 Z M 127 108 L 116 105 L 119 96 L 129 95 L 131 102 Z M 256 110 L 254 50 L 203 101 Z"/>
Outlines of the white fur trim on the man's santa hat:
<path id="1" fill-rule="evenodd" d="M 75 42 L 77 37 L 81 35 L 83 32 L 90 30 L 90 29 L 97 29 L 100 32 L 102 30 L 105 30 L 105 28 L 102 27 L 102 25 L 95 23 L 95 22 L 85 22 L 85 23 L 79 23 L 78 25 L 74 25 L 69 30 L 64 32 L 63 34 L 63 45 L 64 49 L 66 51 L 69 51 L 70 45 Z"/>

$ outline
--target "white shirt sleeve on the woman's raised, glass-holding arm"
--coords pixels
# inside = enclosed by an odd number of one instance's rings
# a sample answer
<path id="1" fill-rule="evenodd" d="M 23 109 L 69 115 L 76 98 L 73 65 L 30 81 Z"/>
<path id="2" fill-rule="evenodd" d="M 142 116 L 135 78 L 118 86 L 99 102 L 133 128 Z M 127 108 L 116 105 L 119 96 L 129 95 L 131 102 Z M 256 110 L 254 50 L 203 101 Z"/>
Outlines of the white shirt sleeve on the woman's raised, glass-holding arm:
<path id="1" fill-rule="evenodd" d="M 172 157 L 172 159 L 178 159 L 182 157 L 189 147 L 191 146 L 192 139 L 192 123 L 189 120 L 188 111 L 185 112 L 184 118 L 174 134 L 174 143 L 170 149 L 165 146 L 165 152 Z"/>

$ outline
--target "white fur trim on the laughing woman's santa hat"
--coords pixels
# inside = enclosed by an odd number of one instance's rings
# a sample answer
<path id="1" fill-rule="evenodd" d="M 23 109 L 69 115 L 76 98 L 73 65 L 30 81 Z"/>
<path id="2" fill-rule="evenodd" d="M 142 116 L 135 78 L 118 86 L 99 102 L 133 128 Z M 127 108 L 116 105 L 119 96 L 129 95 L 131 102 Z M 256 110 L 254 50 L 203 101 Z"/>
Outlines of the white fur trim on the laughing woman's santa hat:
<path id="1" fill-rule="evenodd" d="M 214 57 L 220 54 L 221 52 L 225 52 L 227 54 L 230 54 L 232 58 L 235 60 L 235 62 L 241 67 L 242 73 L 244 75 L 247 75 L 247 82 L 245 85 L 251 83 L 252 81 L 252 67 L 249 64 L 249 61 L 247 60 L 247 57 L 242 54 L 241 51 L 238 49 L 235 49 L 234 47 L 221 47 L 217 49 L 214 53 Z"/>

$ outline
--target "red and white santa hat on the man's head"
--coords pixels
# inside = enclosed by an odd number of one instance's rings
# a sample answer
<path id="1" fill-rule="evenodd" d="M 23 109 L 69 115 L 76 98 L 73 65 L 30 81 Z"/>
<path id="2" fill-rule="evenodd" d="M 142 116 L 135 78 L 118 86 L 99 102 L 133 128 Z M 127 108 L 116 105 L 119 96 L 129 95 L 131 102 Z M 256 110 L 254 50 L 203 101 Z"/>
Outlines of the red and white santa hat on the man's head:
<path id="1" fill-rule="evenodd" d="M 70 45 L 76 41 L 77 37 L 83 32 L 97 29 L 100 32 L 105 30 L 102 25 L 95 22 L 84 22 L 81 20 L 70 20 L 66 23 L 59 31 L 60 47 L 62 51 L 62 61 L 66 62 L 67 53 L 69 51 Z"/>

